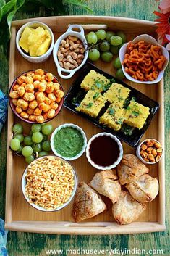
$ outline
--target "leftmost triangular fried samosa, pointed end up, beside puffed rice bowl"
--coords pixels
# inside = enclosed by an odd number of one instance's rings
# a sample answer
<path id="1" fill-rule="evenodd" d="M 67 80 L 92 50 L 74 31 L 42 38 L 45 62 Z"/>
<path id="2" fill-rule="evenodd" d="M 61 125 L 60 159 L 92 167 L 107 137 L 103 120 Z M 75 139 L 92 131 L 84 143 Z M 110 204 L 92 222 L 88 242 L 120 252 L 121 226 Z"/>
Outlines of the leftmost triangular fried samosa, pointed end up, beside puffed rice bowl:
<path id="1" fill-rule="evenodd" d="M 106 210 L 101 196 L 84 181 L 81 181 L 75 194 L 73 204 L 73 218 L 75 222 L 92 218 Z"/>

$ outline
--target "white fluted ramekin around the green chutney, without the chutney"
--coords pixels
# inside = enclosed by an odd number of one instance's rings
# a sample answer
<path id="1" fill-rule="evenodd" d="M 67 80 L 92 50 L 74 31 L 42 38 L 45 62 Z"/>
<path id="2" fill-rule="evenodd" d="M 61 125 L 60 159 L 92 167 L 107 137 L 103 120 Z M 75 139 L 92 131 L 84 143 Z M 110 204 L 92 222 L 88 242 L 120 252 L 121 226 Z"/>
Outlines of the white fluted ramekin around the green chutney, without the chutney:
<path id="1" fill-rule="evenodd" d="M 56 133 L 57 133 L 59 130 L 61 130 L 62 128 L 66 128 L 66 127 L 72 127 L 72 128 L 77 129 L 78 131 L 80 131 L 80 133 L 82 134 L 82 138 L 83 138 L 83 140 L 84 140 L 84 145 L 82 146 L 82 150 L 81 150 L 80 153 L 77 154 L 75 157 L 64 157 L 64 156 L 62 156 L 61 154 L 59 154 L 59 153 L 56 151 L 55 147 L 54 147 L 54 137 L 55 137 Z M 65 123 L 64 125 L 59 125 L 59 127 L 57 127 L 57 128 L 54 130 L 54 132 L 51 134 L 51 140 L 50 140 L 50 141 L 51 141 L 51 149 L 52 149 L 52 151 L 54 152 L 54 154 L 55 154 L 56 156 L 59 156 L 59 157 L 64 158 L 64 160 L 69 160 L 69 161 L 75 160 L 75 159 L 81 157 L 81 155 L 85 152 L 85 147 L 86 147 L 86 145 L 87 145 L 87 138 L 86 138 L 86 136 L 85 136 L 85 132 L 82 130 L 82 128 L 80 128 L 78 125 L 75 125 L 75 124 L 73 124 L 73 123 Z"/>

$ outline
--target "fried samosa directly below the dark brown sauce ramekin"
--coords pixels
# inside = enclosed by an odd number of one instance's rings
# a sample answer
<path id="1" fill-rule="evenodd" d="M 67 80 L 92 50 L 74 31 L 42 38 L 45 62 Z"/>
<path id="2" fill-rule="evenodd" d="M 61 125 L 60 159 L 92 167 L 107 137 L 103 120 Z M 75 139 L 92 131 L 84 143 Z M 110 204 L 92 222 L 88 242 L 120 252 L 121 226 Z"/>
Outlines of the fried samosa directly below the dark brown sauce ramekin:
<path id="1" fill-rule="evenodd" d="M 109 197 L 113 204 L 119 199 L 121 186 L 116 176 L 116 170 L 102 170 L 96 173 L 89 186 L 98 191 L 99 194 Z"/>

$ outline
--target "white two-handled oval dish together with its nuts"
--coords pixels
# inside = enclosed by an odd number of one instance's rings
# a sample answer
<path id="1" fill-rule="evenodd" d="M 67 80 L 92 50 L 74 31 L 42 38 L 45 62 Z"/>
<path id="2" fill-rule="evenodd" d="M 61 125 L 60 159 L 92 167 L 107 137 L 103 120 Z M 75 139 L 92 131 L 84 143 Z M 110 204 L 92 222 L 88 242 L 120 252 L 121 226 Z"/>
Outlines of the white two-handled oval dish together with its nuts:
<path id="1" fill-rule="evenodd" d="M 59 76 L 64 79 L 71 78 L 85 64 L 88 59 L 88 43 L 82 26 L 69 25 L 54 44 L 53 57 Z"/>

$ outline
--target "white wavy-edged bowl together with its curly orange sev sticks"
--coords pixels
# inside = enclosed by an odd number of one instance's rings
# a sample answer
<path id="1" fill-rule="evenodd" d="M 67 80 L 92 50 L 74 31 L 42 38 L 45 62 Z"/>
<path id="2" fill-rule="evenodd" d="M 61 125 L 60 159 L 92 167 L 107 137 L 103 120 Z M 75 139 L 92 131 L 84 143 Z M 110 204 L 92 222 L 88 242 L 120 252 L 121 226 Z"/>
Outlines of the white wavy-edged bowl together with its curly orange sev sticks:
<path id="1" fill-rule="evenodd" d="M 135 83 L 158 83 L 169 62 L 169 52 L 147 34 L 137 36 L 119 51 L 122 70 Z"/>

